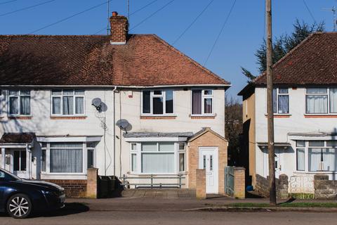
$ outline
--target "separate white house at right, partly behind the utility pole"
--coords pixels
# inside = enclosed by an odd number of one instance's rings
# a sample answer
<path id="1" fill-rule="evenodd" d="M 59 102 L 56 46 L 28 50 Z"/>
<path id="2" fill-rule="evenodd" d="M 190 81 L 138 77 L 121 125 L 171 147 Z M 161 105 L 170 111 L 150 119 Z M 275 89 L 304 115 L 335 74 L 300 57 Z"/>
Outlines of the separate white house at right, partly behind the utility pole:
<path id="1" fill-rule="evenodd" d="M 314 175 L 337 175 L 337 33 L 315 33 L 273 65 L 275 172 L 289 193 L 314 193 Z M 268 176 L 266 75 L 243 97 L 243 150 L 253 186 Z"/>

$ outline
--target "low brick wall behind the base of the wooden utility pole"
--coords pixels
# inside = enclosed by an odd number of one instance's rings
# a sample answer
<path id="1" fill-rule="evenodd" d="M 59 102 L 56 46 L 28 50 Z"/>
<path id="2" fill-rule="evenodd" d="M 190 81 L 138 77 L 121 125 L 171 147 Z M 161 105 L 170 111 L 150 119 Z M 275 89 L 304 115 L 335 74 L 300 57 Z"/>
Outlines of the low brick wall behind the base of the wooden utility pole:
<path id="1" fill-rule="evenodd" d="M 288 176 L 286 176 L 286 174 L 281 174 L 279 175 L 279 179 L 275 179 L 275 182 L 277 198 L 288 198 Z M 256 174 L 256 185 L 254 186 L 254 191 L 256 191 L 260 196 L 269 198 L 269 177 L 267 176 L 267 178 L 265 178 Z"/>

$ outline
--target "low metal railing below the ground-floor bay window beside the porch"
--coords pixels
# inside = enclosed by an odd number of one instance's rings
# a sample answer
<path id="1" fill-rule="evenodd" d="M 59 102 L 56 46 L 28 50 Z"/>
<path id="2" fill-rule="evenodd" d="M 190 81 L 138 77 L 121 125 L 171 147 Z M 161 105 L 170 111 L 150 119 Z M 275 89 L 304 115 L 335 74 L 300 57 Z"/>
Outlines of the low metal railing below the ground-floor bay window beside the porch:
<path id="1" fill-rule="evenodd" d="M 176 187 L 176 188 L 182 188 L 182 186 L 185 185 L 183 183 L 183 179 L 185 179 L 185 176 L 179 174 L 179 175 L 173 175 L 173 176 L 158 176 L 158 175 L 153 175 L 150 174 L 148 176 L 126 176 L 125 174 L 120 177 L 121 179 L 121 185 L 123 186 L 135 186 L 135 188 L 165 188 L 165 187 Z M 130 180 L 150 180 L 149 183 L 145 182 L 130 182 Z M 156 183 L 155 180 L 162 180 L 162 179 L 176 179 L 177 183 Z"/>

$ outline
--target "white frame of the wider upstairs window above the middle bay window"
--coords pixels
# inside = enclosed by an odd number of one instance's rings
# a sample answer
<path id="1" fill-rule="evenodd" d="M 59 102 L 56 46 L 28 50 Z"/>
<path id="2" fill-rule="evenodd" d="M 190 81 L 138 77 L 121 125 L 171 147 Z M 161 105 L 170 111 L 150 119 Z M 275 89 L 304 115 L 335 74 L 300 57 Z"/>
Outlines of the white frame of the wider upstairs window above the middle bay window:
<path id="1" fill-rule="evenodd" d="M 150 91 L 150 113 L 143 112 L 143 93 L 144 91 Z M 161 94 L 154 94 L 154 91 L 161 91 Z M 166 91 L 172 91 L 173 96 L 173 113 L 166 113 Z M 173 89 L 145 89 L 141 91 L 140 94 L 140 115 L 145 116 L 174 116 L 176 115 L 176 91 Z M 153 113 L 153 98 L 163 98 L 163 113 L 162 114 L 154 114 Z"/>

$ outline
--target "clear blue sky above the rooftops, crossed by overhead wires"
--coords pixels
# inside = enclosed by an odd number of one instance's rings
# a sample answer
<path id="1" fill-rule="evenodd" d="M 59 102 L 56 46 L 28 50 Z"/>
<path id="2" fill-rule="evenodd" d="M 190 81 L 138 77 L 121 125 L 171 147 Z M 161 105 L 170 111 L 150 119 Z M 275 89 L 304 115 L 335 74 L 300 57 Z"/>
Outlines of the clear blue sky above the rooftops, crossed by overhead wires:
<path id="1" fill-rule="evenodd" d="M 0 0 L 0 34 L 29 34 L 41 27 L 104 2 L 104 0 L 55 0 L 35 8 L 3 15 L 47 0 L 8 1 L 11 0 Z M 131 13 L 152 1 L 130 0 Z M 157 0 L 142 11 L 135 13 L 130 18 L 130 27 L 138 25 L 169 1 L 171 0 Z M 172 44 L 210 1 L 175 0 L 131 32 L 154 33 Z M 322 8 L 337 6 L 337 1 L 305 0 L 305 2 L 315 20 L 317 22 L 324 21 L 326 30 L 332 31 L 332 13 L 323 11 Z M 174 46 L 203 65 L 232 4 L 233 0 L 214 0 Z M 232 87 L 228 91 L 230 96 L 236 96 L 237 92 L 246 85 L 246 78 L 242 75 L 240 66 L 257 73 L 254 52 L 263 40 L 265 33 L 264 7 L 264 0 L 237 0 L 223 33 L 218 39 L 216 48 L 206 63 L 206 68 L 232 83 Z M 274 0 L 272 10 L 274 36 L 290 33 L 296 18 L 307 23 L 314 22 L 314 18 L 305 7 L 303 0 Z M 126 0 L 111 1 L 110 11 L 125 14 Z M 36 34 L 95 34 L 95 32 L 104 29 L 106 23 L 107 7 L 103 5 L 40 30 Z M 105 32 L 103 30 L 100 33 L 104 34 Z"/>

